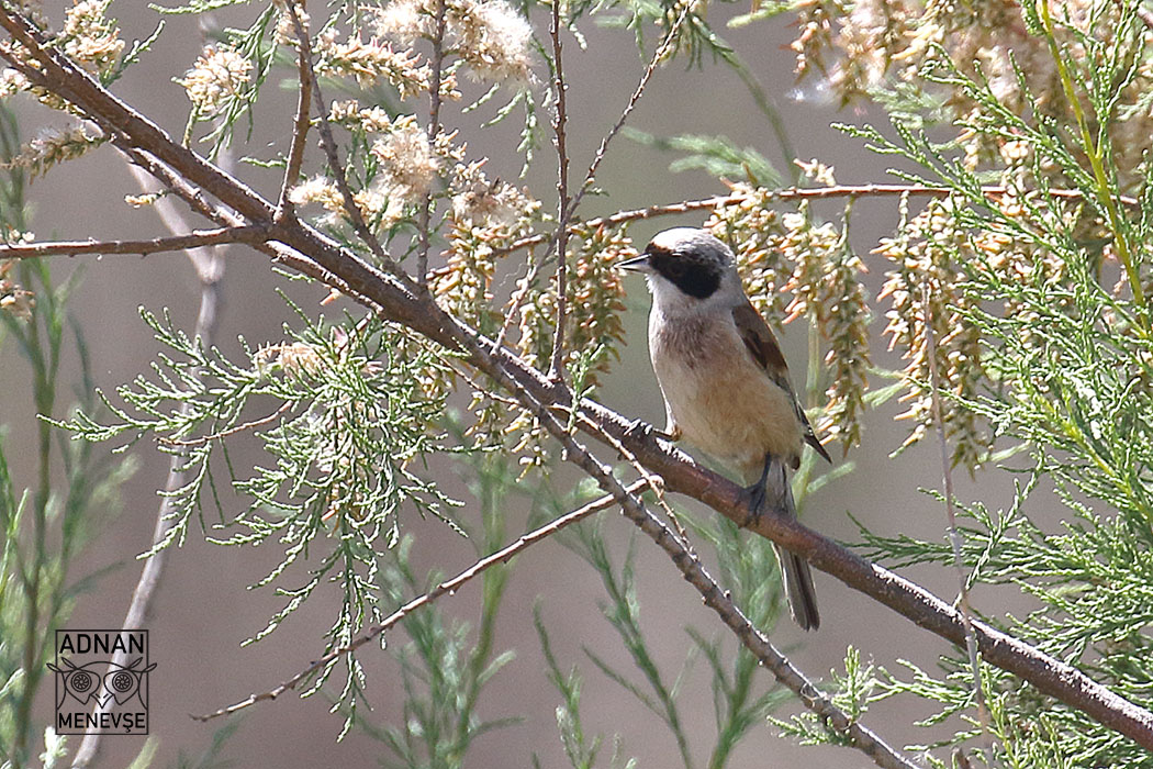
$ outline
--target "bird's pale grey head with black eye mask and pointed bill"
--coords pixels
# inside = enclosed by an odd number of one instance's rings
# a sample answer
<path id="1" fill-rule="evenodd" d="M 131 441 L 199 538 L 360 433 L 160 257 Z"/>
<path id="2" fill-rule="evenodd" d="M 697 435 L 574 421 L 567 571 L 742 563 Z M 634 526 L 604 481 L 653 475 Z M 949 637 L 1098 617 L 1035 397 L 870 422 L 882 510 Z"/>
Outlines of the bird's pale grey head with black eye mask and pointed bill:
<path id="1" fill-rule="evenodd" d="M 740 296 L 732 251 L 703 229 L 665 229 L 649 241 L 640 256 L 617 266 L 645 273 L 658 303 L 691 309 L 730 295 Z"/>

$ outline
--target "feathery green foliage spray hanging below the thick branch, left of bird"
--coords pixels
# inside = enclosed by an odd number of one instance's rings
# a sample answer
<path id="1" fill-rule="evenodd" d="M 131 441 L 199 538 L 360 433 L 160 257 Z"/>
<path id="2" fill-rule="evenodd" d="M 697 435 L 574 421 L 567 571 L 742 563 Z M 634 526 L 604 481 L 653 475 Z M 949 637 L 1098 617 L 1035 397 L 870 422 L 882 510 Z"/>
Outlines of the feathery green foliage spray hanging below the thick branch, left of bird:
<path id="1" fill-rule="evenodd" d="M 286 603 L 253 641 L 334 581 L 341 602 L 329 643 L 347 642 L 372 613 L 380 553 L 400 538 L 401 510 L 447 520 L 449 507 L 460 504 L 427 477 L 434 454 L 462 450 L 437 427 L 446 391 L 429 376 L 447 372 L 443 353 L 391 324 L 329 325 L 301 312 L 303 330 L 286 330 L 292 341 L 257 350 L 246 345 L 248 360 L 239 364 L 174 327 L 167 314 L 142 315 L 169 350 L 153 364 L 153 378 L 120 387 L 125 406 L 101 394 L 115 421 L 78 413 L 56 424 L 85 442 L 127 436 L 123 447 L 151 435 L 180 458 L 186 481 L 167 496 L 172 525 L 155 550 L 182 542 L 194 515 L 205 526 L 212 506 L 220 533 L 211 541 L 281 550 L 257 585 L 277 585 Z M 249 419 L 254 410 L 258 419 Z M 241 477 L 224 439 L 248 431 L 273 461 Z M 248 500 L 227 519 L 221 465 Z M 293 567 L 307 576 L 282 585 Z"/>

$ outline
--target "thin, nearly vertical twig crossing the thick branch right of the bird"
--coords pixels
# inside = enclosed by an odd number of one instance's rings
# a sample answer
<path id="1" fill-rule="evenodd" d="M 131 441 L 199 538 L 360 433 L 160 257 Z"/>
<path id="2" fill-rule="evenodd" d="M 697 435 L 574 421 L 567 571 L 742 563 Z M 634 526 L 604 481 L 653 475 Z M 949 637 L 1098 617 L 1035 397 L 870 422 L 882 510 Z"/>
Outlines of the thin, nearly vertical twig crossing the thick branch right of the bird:
<path id="1" fill-rule="evenodd" d="M 941 446 L 941 470 L 944 475 L 944 508 L 948 515 L 949 544 L 952 546 L 952 565 L 957 571 L 959 585 L 960 618 L 965 627 L 965 651 L 969 654 L 969 666 L 973 671 L 973 696 L 977 701 L 977 717 L 981 724 L 981 733 L 988 741 L 993 734 L 993 719 L 985 701 L 985 686 L 981 683 L 981 658 L 977 649 L 977 635 L 973 633 L 973 611 L 969 603 L 969 576 L 965 574 L 965 561 L 960 553 L 962 535 L 957 529 L 957 514 L 954 511 L 952 463 L 949 461 L 949 439 L 944 433 L 944 409 L 941 407 L 941 378 L 937 371 L 936 333 L 933 327 L 932 292 L 928 281 L 922 286 L 921 306 L 925 317 L 925 344 L 929 363 L 929 391 L 933 405 L 933 421 L 936 423 L 937 443 Z M 987 745 L 992 751 L 992 742 Z"/>

